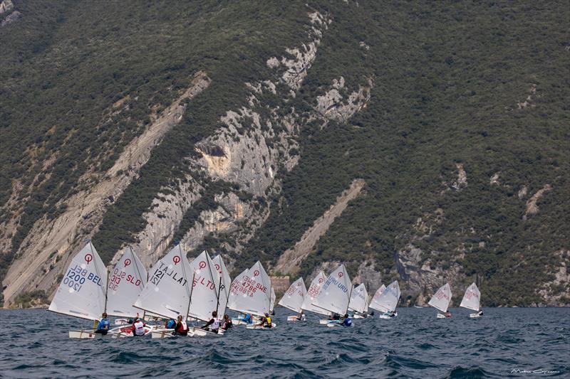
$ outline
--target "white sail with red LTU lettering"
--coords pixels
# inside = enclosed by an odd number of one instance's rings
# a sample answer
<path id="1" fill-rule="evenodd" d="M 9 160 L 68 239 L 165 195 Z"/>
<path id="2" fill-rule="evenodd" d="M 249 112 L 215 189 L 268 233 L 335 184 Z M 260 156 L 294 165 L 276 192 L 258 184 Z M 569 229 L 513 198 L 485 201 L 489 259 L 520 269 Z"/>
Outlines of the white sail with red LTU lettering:
<path id="1" fill-rule="evenodd" d="M 188 277 L 194 277 L 194 284 L 190 290 L 192 297 L 188 316 L 193 319 L 209 321 L 212 319 L 212 311 L 216 311 L 219 306 L 220 280 L 219 272 L 206 251 L 203 251 L 195 260 L 190 262 Z"/>

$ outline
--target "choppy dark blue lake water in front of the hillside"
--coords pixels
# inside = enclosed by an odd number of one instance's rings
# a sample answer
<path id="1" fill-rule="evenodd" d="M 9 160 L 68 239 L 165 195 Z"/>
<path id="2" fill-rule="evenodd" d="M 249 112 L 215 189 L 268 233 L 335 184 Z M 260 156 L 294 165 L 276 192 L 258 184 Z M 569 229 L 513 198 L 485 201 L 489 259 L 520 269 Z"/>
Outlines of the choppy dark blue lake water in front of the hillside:
<path id="1" fill-rule="evenodd" d="M 485 309 L 436 320 L 433 309 L 398 309 L 398 319 L 352 328 L 287 324 L 234 327 L 205 338 L 72 340 L 89 321 L 45 310 L 0 311 L 2 378 L 570 378 L 570 309 Z M 517 372 L 520 370 L 520 372 Z M 528 371 L 528 372 L 527 372 Z"/>

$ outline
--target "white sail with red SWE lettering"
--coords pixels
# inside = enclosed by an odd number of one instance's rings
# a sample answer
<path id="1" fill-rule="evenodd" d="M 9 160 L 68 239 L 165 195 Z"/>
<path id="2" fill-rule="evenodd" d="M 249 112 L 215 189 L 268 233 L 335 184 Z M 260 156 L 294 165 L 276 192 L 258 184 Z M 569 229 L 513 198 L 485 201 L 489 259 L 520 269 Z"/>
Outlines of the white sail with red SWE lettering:
<path id="1" fill-rule="evenodd" d="M 236 289 L 237 295 L 229 306 L 234 311 L 263 316 L 269 313 L 271 306 L 271 281 L 261 265 L 257 262 L 240 279 Z M 230 294 L 230 297 L 232 295 Z"/>

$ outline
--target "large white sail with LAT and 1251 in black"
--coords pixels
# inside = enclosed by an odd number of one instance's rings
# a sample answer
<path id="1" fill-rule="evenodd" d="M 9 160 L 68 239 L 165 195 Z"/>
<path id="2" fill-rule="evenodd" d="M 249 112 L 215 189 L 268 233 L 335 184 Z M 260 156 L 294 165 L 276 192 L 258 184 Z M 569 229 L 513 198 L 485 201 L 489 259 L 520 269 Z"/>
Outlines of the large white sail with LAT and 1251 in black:
<path id="1" fill-rule="evenodd" d="M 135 308 L 176 319 L 190 304 L 192 270 L 182 250 L 175 246 L 150 269 L 148 282 L 135 301 Z"/>

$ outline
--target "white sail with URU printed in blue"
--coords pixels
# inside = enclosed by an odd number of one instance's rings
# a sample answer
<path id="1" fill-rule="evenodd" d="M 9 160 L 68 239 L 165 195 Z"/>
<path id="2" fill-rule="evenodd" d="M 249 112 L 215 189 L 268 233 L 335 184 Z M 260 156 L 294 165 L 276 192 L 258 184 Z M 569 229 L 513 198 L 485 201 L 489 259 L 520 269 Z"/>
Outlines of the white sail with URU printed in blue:
<path id="1" fill-rule="evenodd" d="M 352 284 L 344 265 L 331 272 L 313 300 L 313 305 L 337 314 L 345 314 L 351 300 Z"/>

